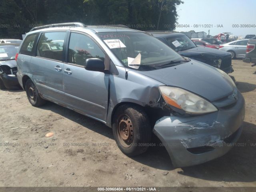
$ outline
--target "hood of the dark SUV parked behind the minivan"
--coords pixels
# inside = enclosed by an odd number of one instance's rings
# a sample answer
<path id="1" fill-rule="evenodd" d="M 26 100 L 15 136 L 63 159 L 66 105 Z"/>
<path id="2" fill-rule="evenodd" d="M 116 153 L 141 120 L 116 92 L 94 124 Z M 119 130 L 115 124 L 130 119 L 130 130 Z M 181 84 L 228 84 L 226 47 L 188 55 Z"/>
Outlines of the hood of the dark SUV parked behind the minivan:
<path id="1" fill-rule="evenodd" d="M 203 46 L 197 46 L 188 50 L 184 51 L 179 51 L 179 54 L 183 56 L 198 56 L 198 55 L 207 55 L 207 56 L 212 56 L 212 57 L 223 57 L 223 56 L 229 56 L 230 53 L 225 52 L 225 51 L 220 51 L 218 49 L 212 49 L 208 47 L 203 47 Z"/>

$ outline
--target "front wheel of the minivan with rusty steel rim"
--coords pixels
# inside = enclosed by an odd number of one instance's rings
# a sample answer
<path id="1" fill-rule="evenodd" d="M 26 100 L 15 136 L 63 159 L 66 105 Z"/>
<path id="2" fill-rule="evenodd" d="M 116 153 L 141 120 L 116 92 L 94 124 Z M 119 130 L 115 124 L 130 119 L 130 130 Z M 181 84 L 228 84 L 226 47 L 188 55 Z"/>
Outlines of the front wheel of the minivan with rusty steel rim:
<path id="1" fill-rule="evenodd" d="M 152 130 L 149 118 L 141 107 L 136 105 L 118 107 L 112 128 L 116 144 L 124 154 L 135 156 L 148 149 Z"/>

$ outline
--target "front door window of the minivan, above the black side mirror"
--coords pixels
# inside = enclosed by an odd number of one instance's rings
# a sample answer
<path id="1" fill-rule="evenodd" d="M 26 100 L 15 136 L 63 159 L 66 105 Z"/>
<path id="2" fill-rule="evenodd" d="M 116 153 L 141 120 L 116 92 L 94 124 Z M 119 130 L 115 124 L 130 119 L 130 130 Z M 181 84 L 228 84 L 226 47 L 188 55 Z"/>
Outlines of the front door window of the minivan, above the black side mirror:
<path id="1" fill-rule="evenodd" d="M 68 62 L 84 66 L 88 58 L 105 59 L 104 52 L 88 36 L 71 33 L 68 46 Z"/>

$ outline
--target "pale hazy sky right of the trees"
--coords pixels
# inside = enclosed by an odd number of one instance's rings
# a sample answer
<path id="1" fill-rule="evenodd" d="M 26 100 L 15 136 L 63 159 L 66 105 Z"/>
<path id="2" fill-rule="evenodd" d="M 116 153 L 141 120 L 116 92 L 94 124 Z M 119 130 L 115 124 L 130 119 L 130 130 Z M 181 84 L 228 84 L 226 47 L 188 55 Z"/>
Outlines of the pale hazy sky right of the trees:
<path id="1" fill-rule="evenodd" d="M 190 27 L 176 28 L 176 31 L 204 31 L 210 35 L 231 32 L 236 36 L 256 34 L 256 0 L 182 0 L 177 7 L 178 23 Z M 194 28 L 194 25 L 210 24 L 212 28 Z M 251 28 L 235 28 L 233 24 L 251 24 Z M 223 28 L 218 28 L 223 25 Z"/>

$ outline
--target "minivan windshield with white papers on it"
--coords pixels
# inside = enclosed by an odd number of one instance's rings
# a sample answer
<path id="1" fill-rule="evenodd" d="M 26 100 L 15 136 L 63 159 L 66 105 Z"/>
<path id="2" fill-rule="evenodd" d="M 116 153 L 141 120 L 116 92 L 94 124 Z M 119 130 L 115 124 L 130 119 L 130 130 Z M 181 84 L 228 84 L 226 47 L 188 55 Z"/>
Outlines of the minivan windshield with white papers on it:
<path id="1" fill-rule="evenodd" d="M 97 35 L 126 67 L 184 60 L 166 44 L 143 32 L 100 32 Z"/>

